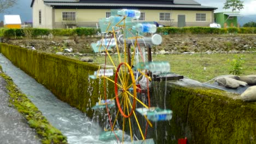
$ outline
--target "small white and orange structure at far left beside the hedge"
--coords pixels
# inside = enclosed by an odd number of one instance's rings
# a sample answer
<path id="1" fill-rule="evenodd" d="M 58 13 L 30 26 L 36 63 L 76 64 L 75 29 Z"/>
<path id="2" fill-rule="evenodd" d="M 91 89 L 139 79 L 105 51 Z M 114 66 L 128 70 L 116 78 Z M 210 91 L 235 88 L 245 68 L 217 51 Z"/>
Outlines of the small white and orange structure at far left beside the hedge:
<path id="1" fill-rule="evenodd" d="M 21 28 L 20 15 L 4 15 L 4 27 Z"/>

